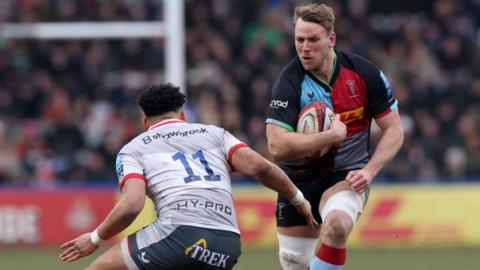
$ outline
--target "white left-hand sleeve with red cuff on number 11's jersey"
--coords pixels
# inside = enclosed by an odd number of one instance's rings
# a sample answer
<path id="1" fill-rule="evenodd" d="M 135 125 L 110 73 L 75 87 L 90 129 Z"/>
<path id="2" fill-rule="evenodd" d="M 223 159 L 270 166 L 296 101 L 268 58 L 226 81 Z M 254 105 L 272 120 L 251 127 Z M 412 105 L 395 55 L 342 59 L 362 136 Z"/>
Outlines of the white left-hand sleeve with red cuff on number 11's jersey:
<path id="1" fill-rule="evenodd" d="M 117 155 L 116 171 L 120 189 L 125 182 L 132 178 L 139 178 L 147 182 L 142 165 L 131 154 L 120 152 Z"/>

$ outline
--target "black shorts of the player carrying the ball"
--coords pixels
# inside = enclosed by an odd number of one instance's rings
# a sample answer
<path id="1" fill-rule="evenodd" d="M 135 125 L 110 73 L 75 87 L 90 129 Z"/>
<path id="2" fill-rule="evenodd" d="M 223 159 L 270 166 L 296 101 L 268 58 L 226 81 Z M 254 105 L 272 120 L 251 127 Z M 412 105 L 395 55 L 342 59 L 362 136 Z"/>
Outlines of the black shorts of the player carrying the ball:
<path id="1" fill-rule="evenodd" d="M 313 217 L 319 222 L 322 222 L 318 206 L 322 194 L 336 183 L 345 180 L 348 171 L 333 172 L 329 175 L 322 176 L 320 179 L 311 181 L 294 181 L 295 185 L 303 192 L 303 196 L 312 205 Z M 308 225 L 305 218 L 298 213 L 297 209 L 290 203 L 290 201 L 278 195 L 277 210 L 275 211 L 278 227 L 292 227 L 300 225 Z"/>

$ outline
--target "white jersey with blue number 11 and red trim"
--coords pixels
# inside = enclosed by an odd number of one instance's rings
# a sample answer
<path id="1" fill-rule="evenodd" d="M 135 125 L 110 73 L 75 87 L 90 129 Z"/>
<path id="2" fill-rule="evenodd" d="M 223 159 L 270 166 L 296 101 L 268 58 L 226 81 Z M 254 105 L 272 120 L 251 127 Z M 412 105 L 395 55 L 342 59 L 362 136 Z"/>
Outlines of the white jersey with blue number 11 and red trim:
<path id="1" fill-rule="evenodd" d="M 143 179 L 156 223 L 239 233 L 231 193 L 232 154 L 246 146 L 228 131 L 166 119 L 126 144 L 117 156 L 122 187 Z"/>

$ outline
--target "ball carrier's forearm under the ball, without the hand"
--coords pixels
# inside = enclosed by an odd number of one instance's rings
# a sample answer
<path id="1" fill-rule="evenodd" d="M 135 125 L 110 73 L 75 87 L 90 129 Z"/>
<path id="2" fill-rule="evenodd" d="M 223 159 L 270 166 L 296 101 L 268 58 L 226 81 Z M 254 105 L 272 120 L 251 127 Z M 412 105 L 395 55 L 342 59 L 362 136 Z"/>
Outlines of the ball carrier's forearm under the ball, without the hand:
<path id="1" fill-rule="evenodd" d="M 268 147 L 275 161 L 290 161 L 311 157 L 335 143 L 331 131 L 302 134 L 285 132 L 279 138 L 269 140 Z"/>

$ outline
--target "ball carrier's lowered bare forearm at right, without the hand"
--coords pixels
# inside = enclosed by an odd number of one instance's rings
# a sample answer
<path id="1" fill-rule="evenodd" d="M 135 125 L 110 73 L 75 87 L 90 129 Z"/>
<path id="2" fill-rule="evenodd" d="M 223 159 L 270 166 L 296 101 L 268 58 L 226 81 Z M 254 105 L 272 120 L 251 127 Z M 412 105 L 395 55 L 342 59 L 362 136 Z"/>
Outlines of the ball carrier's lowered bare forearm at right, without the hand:
<path id="1" fill-rule="evenodd" d="M 393 126 L 386 129 L 365 169 L 372 172 L 372 175 L 375 177 L 395 157 L 403 144 L 403 139 L 404 135 L 401 126 Z"/>

